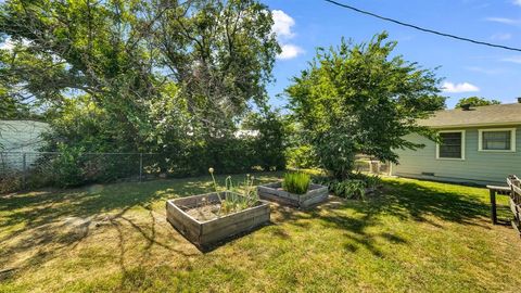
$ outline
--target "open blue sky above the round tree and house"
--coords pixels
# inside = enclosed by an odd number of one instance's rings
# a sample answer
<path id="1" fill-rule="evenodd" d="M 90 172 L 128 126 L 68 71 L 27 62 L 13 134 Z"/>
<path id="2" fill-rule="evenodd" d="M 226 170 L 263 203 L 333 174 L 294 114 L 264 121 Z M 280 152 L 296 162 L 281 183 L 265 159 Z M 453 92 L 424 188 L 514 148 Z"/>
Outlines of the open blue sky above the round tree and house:
<path id="1" fill-rule="evenodd" d="M 359 9 L 427 28 L 521 48 L 521 0 L 338 0 Z M 307 67 L 317 47 L 336 46 L 342 36 L 368 41 L 386 30 L 398 41 L 396 53 L 423 67 L 439 67 L 448 107 L 462 97 L 480 95 L 504 103 L 521 97 L 521 52 L 456 41 L 357 14 L 322 0 L 263 0 L 274 12 L 284 49 L 268 86 L 270 102 Z M 443 86 L 443 85 L 442 85 Z"/>

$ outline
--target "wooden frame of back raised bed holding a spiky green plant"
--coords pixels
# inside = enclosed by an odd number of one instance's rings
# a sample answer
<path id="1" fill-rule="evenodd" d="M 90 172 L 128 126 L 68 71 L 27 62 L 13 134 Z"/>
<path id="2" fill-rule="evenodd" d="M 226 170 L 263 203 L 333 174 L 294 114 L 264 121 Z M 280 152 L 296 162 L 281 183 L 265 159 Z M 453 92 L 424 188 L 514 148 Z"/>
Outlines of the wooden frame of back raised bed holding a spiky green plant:
<path id="1" fill-rule="evenodd" d="M 307 208 L 328 200 L 328 188 L 319 184 L 310 184 L 307 193 L 294 194 L 282 189 L 282 182 L 269 183 L 257 187 L 258 196 L 298 208 Z"/>

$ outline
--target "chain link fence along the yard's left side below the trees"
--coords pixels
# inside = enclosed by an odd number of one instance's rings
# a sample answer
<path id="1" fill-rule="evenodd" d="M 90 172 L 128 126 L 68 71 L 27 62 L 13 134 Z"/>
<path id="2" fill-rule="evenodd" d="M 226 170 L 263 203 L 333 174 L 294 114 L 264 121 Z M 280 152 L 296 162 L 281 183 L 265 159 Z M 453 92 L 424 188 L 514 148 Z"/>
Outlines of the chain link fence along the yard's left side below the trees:
<path id="1" fill-rule="evenodd" d="M 166 177 L 167 162 L 149 153 L 0 152 L 0 193 Z"/>

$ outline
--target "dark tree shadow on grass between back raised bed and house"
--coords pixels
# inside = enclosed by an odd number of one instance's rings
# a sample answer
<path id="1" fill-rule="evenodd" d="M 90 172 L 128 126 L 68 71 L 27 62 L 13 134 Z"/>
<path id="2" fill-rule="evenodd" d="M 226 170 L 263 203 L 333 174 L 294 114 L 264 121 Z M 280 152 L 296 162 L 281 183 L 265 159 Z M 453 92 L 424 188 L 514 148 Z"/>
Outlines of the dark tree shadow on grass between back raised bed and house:
<path id="1" fill-rule="evenodd" d="M 306 228 L 309 225 L 306 219 L 314 218 L 325 228 L 340 229 L 348 240 L 344 245 L 346 251 L 355 252 L 359 246 L 364 246 L 376 256 L 382 256 L 378 249 L 379 240 L 395 245 L 407 244 L 406 239 L 390 231 L 368 232 L 368 228 L 383 225 L 381 222 L 383 215 L 399 220 L 427 222 L 439 229 L 444 227 L 439 221 L 433 221 L 432 217 L 490 229 L 482 220 L 478 220 L 488 216 L 490 207 L 485 202 L 480 201 L 475 194 L 468 194 L 465 187 L 450 184 L 443 187 L 429 182 L 424 184 L 415 181 L 386 181 L 382 194 L 366 202 L 332 198 L 329 203 L 304 214 L 289 207 L 278 207 L 276 213 L 281 217 L 280 222 Z"/>

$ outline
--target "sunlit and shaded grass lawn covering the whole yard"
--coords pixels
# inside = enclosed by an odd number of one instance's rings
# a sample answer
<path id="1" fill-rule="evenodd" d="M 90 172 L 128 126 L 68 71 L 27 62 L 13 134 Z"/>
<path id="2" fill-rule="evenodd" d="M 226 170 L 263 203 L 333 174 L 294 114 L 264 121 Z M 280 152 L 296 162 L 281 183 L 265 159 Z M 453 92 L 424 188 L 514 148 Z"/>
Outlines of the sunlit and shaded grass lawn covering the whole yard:
<path id="1" fill-rule="evenodd" d="M 209 182 L 0 195 L 0 270 L 14 269 L 0 273 L 0 292 L 521 288 L 521 241 L 490 224 L 485 189 L 386 179 L 384 194 L 366 202 L 274 206 L 272 225 L 203 254 L 165 220 L 165 200 L 211 191 Z"/>

